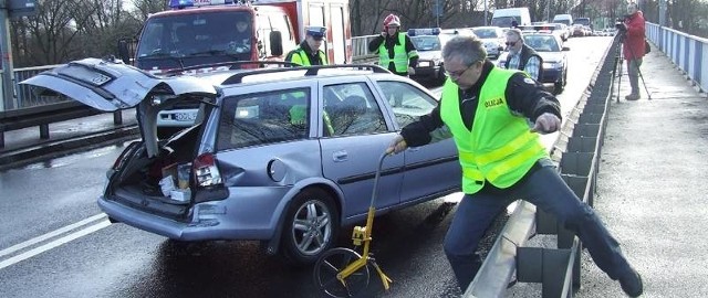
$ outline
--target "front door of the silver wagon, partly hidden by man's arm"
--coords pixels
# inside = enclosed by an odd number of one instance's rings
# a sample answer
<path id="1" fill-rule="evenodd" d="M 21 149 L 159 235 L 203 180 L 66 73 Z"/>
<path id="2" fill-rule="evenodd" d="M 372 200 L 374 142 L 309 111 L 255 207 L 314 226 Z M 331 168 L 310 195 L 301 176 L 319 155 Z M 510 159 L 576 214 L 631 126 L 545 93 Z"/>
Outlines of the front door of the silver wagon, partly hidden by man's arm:
<path id="1" fill-rule="evenodd" d="M 399 96 L 400 106 L 392 110 L 398 128 L 427 115 L 438 104 L 419 85 L 399 81 L 378 81 L 386 98 Z M 444 127 L 434 132 L 439 138 L 449 136 Z M 439 194 L 457 191 L 461 182 L 461 170 L 457 159 L 457 147 L 451 138 L 404 151 L 404 175 L 400 190 L 402 203 L 427 200 Z"/>

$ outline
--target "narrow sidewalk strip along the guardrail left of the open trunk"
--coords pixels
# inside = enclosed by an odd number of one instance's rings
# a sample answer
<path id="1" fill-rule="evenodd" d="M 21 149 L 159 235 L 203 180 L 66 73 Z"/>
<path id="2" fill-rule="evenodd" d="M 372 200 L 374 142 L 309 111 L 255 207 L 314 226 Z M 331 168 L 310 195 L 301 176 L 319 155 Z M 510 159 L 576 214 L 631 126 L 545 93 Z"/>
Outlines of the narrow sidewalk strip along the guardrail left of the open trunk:
<path id="1" fill-rule="evenodd" d="M 135 109 L 122 111 L 123 124 L 113 124 L 113 113 L 98 114 L 49 125 L 50 138 L 40 139 L 40 128 L 29 127 L 4 132 L 0 149 L 0 170 L 58 155 L 85 151 L 110 141 L 137 138 Z"/>

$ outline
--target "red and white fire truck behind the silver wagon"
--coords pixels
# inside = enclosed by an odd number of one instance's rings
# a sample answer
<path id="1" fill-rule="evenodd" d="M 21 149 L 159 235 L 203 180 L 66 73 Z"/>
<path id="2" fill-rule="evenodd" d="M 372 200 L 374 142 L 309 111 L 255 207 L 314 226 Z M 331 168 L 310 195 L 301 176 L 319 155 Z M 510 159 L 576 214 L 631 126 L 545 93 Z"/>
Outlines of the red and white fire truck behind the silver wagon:
<path id="1" fill-rule="evenodd" d="M 169 10 L 148 17 L 135 53 L 127 43 L 119 43 L 118 53 L 153 74 L 230 61 L 282 61 L 304 40 L 308 25 L 327 28 L 321 50 L 331 64 L 351 63 L 348 0 L 170 0 Z"/>

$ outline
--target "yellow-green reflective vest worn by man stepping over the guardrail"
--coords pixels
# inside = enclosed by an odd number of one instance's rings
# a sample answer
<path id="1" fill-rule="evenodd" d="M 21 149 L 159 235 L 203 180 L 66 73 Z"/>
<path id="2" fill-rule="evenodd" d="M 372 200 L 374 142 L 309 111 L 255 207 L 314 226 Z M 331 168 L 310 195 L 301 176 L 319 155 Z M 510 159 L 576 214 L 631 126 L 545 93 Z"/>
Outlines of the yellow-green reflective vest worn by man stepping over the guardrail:
<path id="1" fill-rule="evenodd" d="M 485 181 L 509 188 L 539 159 L 548 157 L 527 118 L 514 116 L 507 104 L 507 83 L 517 72 L 493 67 L 489 73 L 480 91 L 472 131 L 460 117 L 459 87 L 449 78 L 442 87 L 440 117 L 457 143 L 465 193 L 479 191 Z"/>

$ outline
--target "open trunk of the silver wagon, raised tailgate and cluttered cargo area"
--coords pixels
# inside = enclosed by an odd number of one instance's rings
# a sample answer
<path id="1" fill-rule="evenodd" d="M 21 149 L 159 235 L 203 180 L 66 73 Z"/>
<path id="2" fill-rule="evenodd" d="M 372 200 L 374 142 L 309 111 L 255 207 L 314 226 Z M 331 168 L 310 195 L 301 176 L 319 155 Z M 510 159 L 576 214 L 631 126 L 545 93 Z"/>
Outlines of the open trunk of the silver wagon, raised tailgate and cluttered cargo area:
<path id="1" fill-rule="evenodd" d="M 204 115 L 216 99 L 216 88 L 194 76 L 155 76 L 122 62 L 85 58 L 28 78 L 21 84 L 66 95 L 103 111 L 136 108 L 140 141 L 132 143 L 108 172 L 107 200 L 135 209 L 185 219 L 194 198 L 210 192 L 201 183 L 195 191 L 191 164 L 202 134 Z M 158 139 L 157 116 L 177 104 L 202 103 L 200 116 L 170 138 Z M 199 196 L 201 195 L 201 196 Z M 212 196 L 202 200 L 210 200 Z"/>

